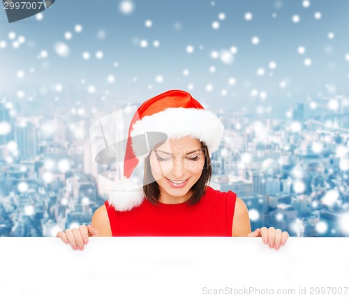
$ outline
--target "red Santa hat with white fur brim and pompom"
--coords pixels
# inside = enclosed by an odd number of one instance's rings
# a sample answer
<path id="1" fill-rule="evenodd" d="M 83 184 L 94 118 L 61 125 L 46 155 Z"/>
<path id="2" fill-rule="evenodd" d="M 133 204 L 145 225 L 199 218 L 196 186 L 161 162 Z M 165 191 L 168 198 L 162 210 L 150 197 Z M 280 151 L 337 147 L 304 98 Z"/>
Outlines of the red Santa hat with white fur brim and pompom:
<path id="1" fill-rule="evenodd" d="M 142 185 L 135 190 L 131 175 L 146 157 L 144 148 L 135 145 L 135 137 L 146 132 L 163 132 L 170 139 L 193 137 L 204 142 L 211 155 L 221 143 L 223 124 L 185 91 L 171 90 L 145 101 L 135 112 L 128 129 L 124 180 L 119 181 L 117 190 L 109 195 L 108 202 L 117 211 L 129 211 L 145 198 Z"/>

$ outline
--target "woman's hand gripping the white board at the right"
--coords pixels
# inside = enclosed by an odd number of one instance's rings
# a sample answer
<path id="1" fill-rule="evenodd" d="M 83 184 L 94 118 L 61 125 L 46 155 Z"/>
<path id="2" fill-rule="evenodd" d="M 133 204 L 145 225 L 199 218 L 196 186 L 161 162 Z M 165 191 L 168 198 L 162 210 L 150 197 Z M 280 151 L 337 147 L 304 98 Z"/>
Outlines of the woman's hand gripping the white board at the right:
<path id="1" fill-rule="evenodd" d="M 275 229 L 274 227 L 269 227 L 269 229 L 267 227 L 257 228 L 247 236 L 262 237 L 263 243 L 268 244 L 269 248 L 275 248 L 275 250 L 279 250 L 281 245 L 285 245 L 290 237 L 287 231 L 281 231 L 281 229 Z"/>

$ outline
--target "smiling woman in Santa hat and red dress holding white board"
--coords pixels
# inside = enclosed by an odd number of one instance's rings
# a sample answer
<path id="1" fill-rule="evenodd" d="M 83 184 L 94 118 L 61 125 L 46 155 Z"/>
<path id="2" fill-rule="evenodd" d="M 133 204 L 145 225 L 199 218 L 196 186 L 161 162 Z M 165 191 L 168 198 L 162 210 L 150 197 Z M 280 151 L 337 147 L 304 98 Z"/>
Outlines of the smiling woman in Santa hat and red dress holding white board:
<path id="1" fill-rule="evenodd" d="M 288 232 L 273 227 L 251 232 L 244 201 L 207 185 L 209 155 L 222 137 L 221 121 L 189 93 L 172 90 L 147 100 L 128 130 L 125 180 L 119 183 L 124 190 L 110 195 L 91 224 L 59 231 L 57 237 L 83 250 L 96 236 L 248 236 L 279 250 Z M 142 158 L 143 187 L 135 191 L 132 173 Z"/>

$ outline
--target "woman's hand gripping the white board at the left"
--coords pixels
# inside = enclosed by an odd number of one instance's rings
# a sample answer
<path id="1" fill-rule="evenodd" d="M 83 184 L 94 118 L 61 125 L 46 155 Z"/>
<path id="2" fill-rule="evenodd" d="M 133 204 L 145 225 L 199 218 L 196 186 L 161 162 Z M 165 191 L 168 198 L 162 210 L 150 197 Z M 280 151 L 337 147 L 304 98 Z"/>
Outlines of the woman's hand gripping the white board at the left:
<path id="1" fill-rule="evenodd" d="M 82 224 L 79 228 L 59 231 L 56 237 L 61 238 L 64 243 L 70 243 L 73 250 L 84 250 L 84 245 L 89 243 L 89 237 L 98 237 L 98 230 L 88 224 Z"/>

